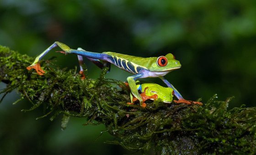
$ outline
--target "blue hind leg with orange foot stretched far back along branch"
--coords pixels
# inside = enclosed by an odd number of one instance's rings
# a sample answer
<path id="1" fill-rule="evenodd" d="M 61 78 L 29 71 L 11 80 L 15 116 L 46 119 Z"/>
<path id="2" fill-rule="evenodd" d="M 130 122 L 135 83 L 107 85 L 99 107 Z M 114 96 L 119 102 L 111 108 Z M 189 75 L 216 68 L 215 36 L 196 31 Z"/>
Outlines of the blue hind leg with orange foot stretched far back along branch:
<path id="1" fill-rule="evenodd" d="M 34 68 L 34 69 L 36 69 L 36 71 L 39 75 L 43 75 L 43 73 L 45 73 L 45 72 L 41 69 L 40 64 L 39 64 L 39 60 L 41 60 L 43 58 L 43 56 L 45 56 L 51 49 L 53 49 L 54 47 L 57 47 L 57 46 L 59 46 L 64 51 L 64 52 L 61 51 L 61 53 L 65 53 L 65 54 L 66 53 L 68 53 L 68 54 L 69 53 L 74 53 L 74 54 L 77 54 L 77 55 L 82 56 L 82 57 L 87 57 L 89 59 L 91 58 L 91 60 L 93 60 L 93 62 L 95 62 L 98 65 L 100 64 L 100 63 L 98 63 L 99 59 L 107 61 L 107 62 L 111 62 L 110 59 L 112 57 L 108 56 L 107 54 L 88 52 L 88 51 L 85 51 L 85 50 L 82 50 L 82 49 L 75 50 L 75 49 L 69 48 L 64 43 L 61 43 L 59 41 L 55 41 L 50 47 L 48 47 L 44 52 L 42 52 L 39 56 L 37 56 L 35 61 L 32 63 L 32 65 L 28 66 L 27 69 L 31 70 L 32 68 Z M 82 57 L 79 57 L 79 59 L 81 60 L 81 63 L 83 63 L 82 62 Z M 104 67 L 104 64 L 102 66 Z"/>

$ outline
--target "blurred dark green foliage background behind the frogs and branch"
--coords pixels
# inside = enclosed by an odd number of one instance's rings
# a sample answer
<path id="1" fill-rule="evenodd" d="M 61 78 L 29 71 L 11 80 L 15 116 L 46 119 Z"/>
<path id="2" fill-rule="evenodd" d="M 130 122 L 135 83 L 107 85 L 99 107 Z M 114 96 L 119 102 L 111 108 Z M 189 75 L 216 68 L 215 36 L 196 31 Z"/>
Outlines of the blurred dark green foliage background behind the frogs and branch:
<path id="1" fill-rule="evenodd" d="M 182 67 L 167 78 L 184 98 L 206 102 L 235 96 L 229 107 L 256 106 L 256 1 L 255 0 L 0 0 L 0 45 L 37 56 L 54 41 L 92 52 L 120 52 L 158 57 L 168 52 Z M 78 65 L 75 55 L 53 50 L 44 59 L 60 67 Z M 85 61 L 89 78 L 100 69 Z M 107 78 L 125 81 L 131 75 L 112 66 Z M 147 79 L 164 83 L 157 78 Z M 0 88 L 5 88 L 0 83 Z M 12 92 L 0 105 L 0 154 L 124 154 L 104 126 L 85 126 L 86 119 L 71 118 L 60 129 L 43 109 L 23 113 L 29 103 L 11 105 Z"/>

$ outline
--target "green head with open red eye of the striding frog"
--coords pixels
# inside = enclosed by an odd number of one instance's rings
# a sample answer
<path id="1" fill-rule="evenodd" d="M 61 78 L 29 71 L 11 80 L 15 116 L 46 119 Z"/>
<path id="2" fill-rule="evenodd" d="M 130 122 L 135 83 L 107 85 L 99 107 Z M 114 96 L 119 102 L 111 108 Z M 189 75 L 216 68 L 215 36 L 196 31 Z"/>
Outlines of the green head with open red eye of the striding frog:
<path id="1" fill-rule="evenodd" d="M 150 71 L 155 72 L 171 72 L 175 69 L 181 67 L 181 63 L 175 59 L 175 57 L 168 53 L 165 56 L 160 56 L 154 60 L 155 62 L 151 62 Z"/>

